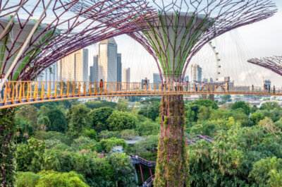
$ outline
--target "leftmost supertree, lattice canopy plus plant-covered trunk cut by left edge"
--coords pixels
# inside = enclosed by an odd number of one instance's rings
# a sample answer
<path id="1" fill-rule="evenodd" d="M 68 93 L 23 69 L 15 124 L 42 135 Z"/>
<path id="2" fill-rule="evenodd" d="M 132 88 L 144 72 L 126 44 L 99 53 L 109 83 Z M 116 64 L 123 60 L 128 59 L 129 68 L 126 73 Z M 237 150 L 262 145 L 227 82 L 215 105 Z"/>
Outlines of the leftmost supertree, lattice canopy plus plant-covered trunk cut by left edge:
<path id="1" fill-rule="evenodd" d="M 81 1 L 89 7 L 70 11 Z M 9 80 L 34 80 L 44 68 L 83 47 L 147 28 L 154 15 L 144 0 L 0 1 L 0 71 Z M 97 21 L 102 18 L 104 23 Z M 0 186 L 14 182 L 14 112 L 0 110 Z"/>

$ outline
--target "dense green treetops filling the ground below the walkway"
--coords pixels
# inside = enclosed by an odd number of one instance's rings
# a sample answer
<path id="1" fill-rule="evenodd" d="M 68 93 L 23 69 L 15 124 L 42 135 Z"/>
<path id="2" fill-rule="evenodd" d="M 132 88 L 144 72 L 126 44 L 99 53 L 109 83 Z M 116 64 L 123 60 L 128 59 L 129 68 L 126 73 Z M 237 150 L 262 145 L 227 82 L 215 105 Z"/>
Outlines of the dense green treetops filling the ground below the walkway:
<path id="1" fill-rule="evenodd" d="M 1 145 L 5 146 L 1 146 L 0 166 L 6 169 L 4 178 L 0 172 L 1 183 L 14 186 L 18 170 L 18 186 L 135 186 L 129 157 L 112 151 L 121 145 L 126 154 L 157 161 L 159 106 L 160 99 L 152 98 L 130 107 L 122 100 L 33 104 L 19 107 L 15 117 L 13 111 L 1 111 Z M 282 186 L 278 104 L 219 106 L 199 99 L 185 104 L 183 111 L 185 138 L 195 143 L 187 150 L 190 186 Z M 198 140 L 197 134 L 209 135 L 213 143 Z M 128 145 L 125 140 L 137 143 Z M 140 177 L 139 166 L 136 169 Z M 143 176 L 149 176 L 149 170 L 142 169 Z"/>

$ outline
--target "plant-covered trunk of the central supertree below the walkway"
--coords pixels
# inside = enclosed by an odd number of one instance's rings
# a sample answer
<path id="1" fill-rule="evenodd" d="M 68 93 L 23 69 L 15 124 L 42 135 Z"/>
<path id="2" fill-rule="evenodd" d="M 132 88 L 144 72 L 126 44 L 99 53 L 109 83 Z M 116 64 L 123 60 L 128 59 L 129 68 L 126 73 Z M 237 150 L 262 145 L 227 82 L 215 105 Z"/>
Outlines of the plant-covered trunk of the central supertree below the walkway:
<path id="1" fill-rule="evenodd" d="M 161 133 L 154 186 L 188 186 L 183 95 L 161 97 Z"/>

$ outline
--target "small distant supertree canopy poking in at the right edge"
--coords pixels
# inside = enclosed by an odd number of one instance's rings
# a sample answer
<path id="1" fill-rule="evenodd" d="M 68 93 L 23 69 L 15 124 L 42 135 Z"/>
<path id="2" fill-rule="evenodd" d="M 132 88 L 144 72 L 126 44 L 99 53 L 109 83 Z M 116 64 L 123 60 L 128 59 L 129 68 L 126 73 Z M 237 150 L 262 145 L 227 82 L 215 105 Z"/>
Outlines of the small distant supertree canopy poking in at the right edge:
<path id="1" fill-rule="evenodd" d="M 282 56 L 264 57 L 261 59 L 250 59 L 247 62 L 274 71 L 282 76 Z"/>

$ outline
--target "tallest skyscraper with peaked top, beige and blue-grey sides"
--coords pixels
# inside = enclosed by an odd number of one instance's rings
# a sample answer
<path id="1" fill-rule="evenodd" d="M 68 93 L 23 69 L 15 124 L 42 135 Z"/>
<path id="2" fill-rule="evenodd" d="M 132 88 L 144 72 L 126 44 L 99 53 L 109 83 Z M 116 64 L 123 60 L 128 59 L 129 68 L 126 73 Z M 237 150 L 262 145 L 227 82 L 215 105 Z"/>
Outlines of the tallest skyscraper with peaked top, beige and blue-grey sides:
<path id="1" fill-rule="evenodd" d="M 98 80 L 103 79 L 104 82 L 117 82 L 117 49 L 118 47 L 113 37 L 102 40 L 99 43 Z"/>

